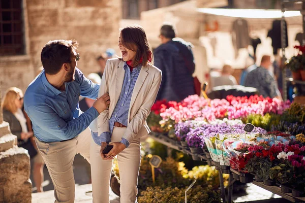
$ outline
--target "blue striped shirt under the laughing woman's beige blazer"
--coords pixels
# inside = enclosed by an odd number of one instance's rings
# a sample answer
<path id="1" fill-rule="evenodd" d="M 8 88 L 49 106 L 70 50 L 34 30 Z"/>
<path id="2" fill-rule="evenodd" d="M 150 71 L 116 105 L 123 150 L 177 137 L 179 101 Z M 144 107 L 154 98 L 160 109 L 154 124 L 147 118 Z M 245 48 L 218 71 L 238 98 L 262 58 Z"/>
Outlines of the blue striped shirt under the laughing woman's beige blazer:
<path id="1" fill-rule="evenodd" d="M 96 144 L 101 145 L 102 142 L 111 142 L 111 134 L 115 122 L 119 122 L 125 126 L 128 126 L 128 112 L 130 108 L 131 96 L 137 78 L 140 74 L 141 67 L 142 65 L 138 65 L 133 69 L 132 72 L 130 72 L 127 63 L 125 62 L 124 64 L 125 75 L 124 75 L 123 87 L 121 89 L 119 99 L 116 103 L 111 118 L 109 119 L 110 132 L 102 132 L 102 134 L 98 137 L 98 132 L 92 131 L 92 137 Z M 126 147 L 128 147 L 130 144 L 125 138 L 122 138 L 120 142 L 125 144 Z"/>

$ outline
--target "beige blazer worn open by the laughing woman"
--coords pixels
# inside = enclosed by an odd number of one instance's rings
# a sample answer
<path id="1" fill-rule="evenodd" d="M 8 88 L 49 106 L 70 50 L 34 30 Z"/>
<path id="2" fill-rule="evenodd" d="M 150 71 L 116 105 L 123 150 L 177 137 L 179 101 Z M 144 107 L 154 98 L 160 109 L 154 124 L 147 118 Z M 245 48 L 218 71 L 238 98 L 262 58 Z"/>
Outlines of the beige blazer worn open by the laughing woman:
<path id="1" fill-rule="evenodd" d="M 107 60 L 99 97 L 109 93 L 110 105 L 108 110 L 100 113 L 96 119 L 99 136 L 102 132 L 109 132 L 109 119 L 119 99 L 124 75 L 124 61 L 117 58 Z M 161 80 L 162 73 L 156 66 L 142 66 L 130 101 L 127 130 L 122 136 L 129 143 L 132 143 L 135 138 L 140 138 L 150 132 L 146 119 L 150 113 L 151 106 L 155 103 Z"/>

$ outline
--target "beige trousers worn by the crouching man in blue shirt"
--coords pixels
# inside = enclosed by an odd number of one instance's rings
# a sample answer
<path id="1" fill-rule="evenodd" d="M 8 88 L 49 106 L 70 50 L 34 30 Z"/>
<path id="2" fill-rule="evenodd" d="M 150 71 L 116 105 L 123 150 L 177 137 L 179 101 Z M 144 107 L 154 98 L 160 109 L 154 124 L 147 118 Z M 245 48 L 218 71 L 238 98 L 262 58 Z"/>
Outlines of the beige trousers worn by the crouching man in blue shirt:
<path id="1" fill-rule="evenodd" d="M 35 138 L 54 185 L 56 203 L 74 202 L 75 182 L 72 164 L 76 154 L 81 154 L 89 162 L 91 140 L 89 128 L 75 138 L 64 142 L 45 143 Z"/>

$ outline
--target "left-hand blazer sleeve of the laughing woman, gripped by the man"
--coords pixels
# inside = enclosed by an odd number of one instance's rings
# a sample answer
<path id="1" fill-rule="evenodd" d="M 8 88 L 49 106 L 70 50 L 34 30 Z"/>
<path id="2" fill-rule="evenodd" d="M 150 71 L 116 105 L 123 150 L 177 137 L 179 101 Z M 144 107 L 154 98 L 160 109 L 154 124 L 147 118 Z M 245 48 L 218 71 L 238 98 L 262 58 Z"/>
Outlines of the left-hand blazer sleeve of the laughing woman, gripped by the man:
<path id="1" fill-rule="evenodd" d="M 111 69 L 112 69 L 111 62 L 109 60 L 107 60 L 105 71 L 103 73 L 103 77 L 102 77 L 102 81 L 101 81 L 101 85 L 100 85 L 99 97 L 101 97 L 105 93 L 109 93 L 109 78 L 110 78 Z M 111 102 L 111 100 L 110 100 L 110 102 Z M 100 115 L 94 122 L 96 122 L 96 126 L 98 129 L 98 136 L 101 136 L 101 134 L 104 132 L 108 132 L 106 134 L 107 134 L 107 136 L 109 135 L 108 139 L 110 139 L 108 109 L 106 109 L 105 111 L 100 113 Z"/>

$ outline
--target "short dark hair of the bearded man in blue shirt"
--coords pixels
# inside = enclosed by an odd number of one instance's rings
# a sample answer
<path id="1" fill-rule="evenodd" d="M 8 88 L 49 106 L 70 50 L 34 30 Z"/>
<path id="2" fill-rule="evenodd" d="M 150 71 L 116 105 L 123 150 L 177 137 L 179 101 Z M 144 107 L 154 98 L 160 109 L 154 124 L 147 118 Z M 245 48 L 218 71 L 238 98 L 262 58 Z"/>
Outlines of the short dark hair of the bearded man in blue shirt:
<path id="1" fill-rule="evenodd" d="M 46 74 L 57 74 L 64 63 L 70 63 L 78 43 L 73 40 L 49 41 L 41 51 L 41 62 Z"/>

